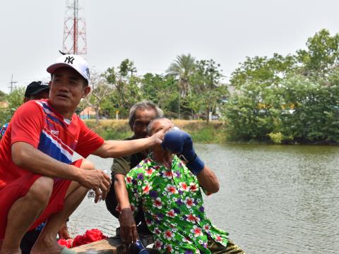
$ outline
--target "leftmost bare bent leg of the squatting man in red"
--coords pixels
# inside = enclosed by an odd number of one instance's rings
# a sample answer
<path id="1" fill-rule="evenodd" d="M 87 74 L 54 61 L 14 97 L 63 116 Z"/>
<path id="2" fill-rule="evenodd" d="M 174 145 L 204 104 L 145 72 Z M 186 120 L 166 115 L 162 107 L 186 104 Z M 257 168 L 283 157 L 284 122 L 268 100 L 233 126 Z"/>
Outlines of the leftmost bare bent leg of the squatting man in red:
<path id="1" fill-rule="evenodd" d="M 1 254 L 20 253 L 20 241 L 30 225 L 47 206 L 52 194 L 53 183 L 53 179 L 40 176 L 25 196 L 13 202 L 7 216 Z"/>

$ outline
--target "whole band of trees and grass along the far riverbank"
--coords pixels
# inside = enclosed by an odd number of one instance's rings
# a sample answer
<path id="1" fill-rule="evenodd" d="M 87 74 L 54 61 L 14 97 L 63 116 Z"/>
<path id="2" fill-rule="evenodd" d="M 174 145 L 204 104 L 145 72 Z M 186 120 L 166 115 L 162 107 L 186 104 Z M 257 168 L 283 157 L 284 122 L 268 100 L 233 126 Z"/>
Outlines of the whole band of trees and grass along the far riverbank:
<path id="1" fill-rule="evenodd" d="M 125 59 L 91 77 L 92 92 L 77 113 L 90 107 L 96 121 L 88 125 L 105 138 L 130 133 L 120 121 L 99 119 L 126 119 L 134 103 L 148 99 L 171 119 L 192 120 L 182 123 L 199 142 L 339 142 L 339 35 L 328 30 L 317 32 L 294 54 L 247 57 L 230 80 L 213 59 L 190 54 L 177 56 L 165 73 L 138 75 L 133 61 Z M 11 119 L 23 90 L 0 92 L 7 102 L 0 123 Z M 218 122 L 209 126 L 211 119 Z"/>

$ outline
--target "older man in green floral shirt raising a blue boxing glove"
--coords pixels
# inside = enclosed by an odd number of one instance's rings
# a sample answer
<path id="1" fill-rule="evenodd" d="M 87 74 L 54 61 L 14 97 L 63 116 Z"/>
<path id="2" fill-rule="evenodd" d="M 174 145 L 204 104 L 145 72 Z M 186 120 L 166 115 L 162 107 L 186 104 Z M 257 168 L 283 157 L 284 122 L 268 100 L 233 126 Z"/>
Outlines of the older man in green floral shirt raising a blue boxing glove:
<path id="1" fill-rule="evenodd" d="M 155 119 L 148 133 L 172 127 L 169 119 Z M 155 234 L 155 248 L 160 253 L 243 253 L 206 217 L 200 187 L 215 193 L 219 182 L 194 152 L 189 134 L 173 128 L 152 150 L 126 175 L 126 188 L 131 209 L 137 212 L 142 205 L 148 228 Z"/>

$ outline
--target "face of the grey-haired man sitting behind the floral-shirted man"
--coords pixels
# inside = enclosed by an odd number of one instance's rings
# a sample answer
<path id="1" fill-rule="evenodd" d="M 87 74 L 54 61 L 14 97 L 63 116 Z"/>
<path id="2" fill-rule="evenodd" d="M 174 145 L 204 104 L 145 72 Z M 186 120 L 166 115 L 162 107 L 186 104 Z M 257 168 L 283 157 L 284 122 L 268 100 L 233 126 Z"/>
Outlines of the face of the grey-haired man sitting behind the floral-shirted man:
<path id="1" fill-rule="evenodd" d="M 136 138 L 145 138 L 147 135 L 147 126 L 150 121 L 155 119 L 153 109 L 138 109 L 136 111 L 136 120 L 133 124 L 133 133 Z"/>

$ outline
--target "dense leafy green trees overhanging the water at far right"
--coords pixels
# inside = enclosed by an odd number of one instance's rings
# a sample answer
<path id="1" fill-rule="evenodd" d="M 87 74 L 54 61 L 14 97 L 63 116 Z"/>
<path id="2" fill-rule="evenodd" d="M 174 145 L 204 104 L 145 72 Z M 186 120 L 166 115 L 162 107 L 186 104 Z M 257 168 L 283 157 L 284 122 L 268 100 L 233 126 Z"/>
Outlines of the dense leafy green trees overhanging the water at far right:
<path id="1" fill-rule="evenodd" d="M 327 30 L 295 54 L 247 58 L 223 106 L 230 136 L 273 143 L 339 142 L 339 35 Z"/>

